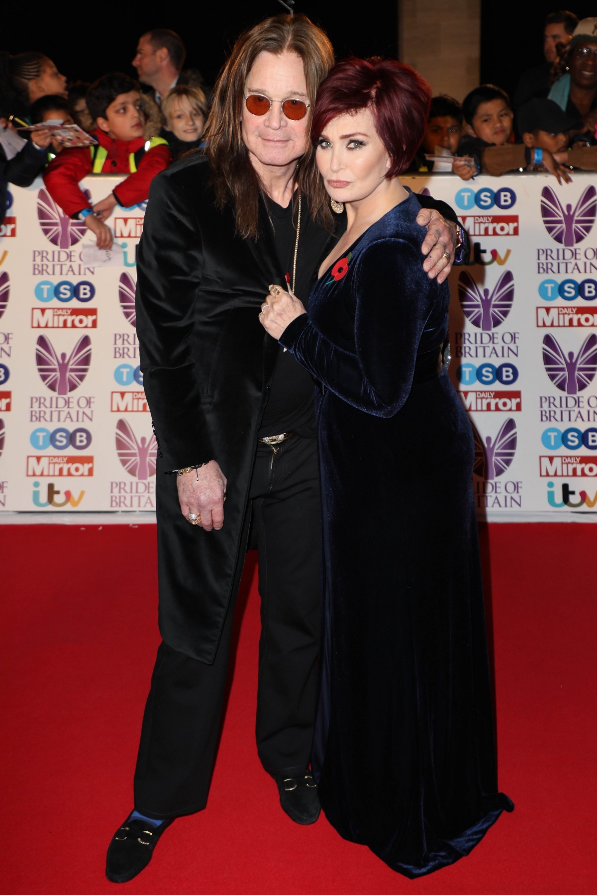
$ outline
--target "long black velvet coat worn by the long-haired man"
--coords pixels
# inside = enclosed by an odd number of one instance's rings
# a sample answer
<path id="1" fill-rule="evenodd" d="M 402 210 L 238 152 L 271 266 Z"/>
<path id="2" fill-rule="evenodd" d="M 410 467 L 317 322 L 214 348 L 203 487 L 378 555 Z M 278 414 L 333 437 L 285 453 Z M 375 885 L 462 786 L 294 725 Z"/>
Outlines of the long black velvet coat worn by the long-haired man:
<path id="1" fill-rule="evenodd" d="M 456 220 L 445 203 L 422 201 Z M 299 243 L 298 295 L 309 294 L 315 270 L 344 231 L 344 217 L 338 225 L 336 235 L 321 228 L 316 263 L 303 258 Z M 267 221 L 257 243 L 239 237 L 232 209 L 215 207 L 200 155 L 153 180 L 136 307 L 143 388 L 159 445 L 159 627 L 166 644 L 200 661 L 214 660 L 244 559 L 240 541 L 257 431 L 281 350 L 258 315 L 269 284 L 283 277 Z M 176 476 L 166 473 L 211 459 L 228 480 L 226 515 L 220 531 L 203 533 L 183 518 Z"/>

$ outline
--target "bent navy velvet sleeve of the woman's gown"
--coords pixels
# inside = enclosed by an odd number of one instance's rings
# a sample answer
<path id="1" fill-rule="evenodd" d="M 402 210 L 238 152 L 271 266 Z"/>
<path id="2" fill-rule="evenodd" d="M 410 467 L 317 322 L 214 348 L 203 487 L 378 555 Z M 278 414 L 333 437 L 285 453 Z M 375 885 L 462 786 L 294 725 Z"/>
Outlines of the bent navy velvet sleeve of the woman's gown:
<path id="1" fill-rule="evenodd" d="M 338 397 L 366 413 L 393 416 L 412 388 L 417 349 L 439 287 L 422 270 L 419 244 L 397 238 L 368 246 L 348 277 L 341 292 L 345 301 L 348 286 L 354 303 L 353 345 L 332 341 L 307 315 L 286 327 L 279 341 Z M 444 332 L 437 328 L 437 344 L 430 333 L 436 355 Z"/>

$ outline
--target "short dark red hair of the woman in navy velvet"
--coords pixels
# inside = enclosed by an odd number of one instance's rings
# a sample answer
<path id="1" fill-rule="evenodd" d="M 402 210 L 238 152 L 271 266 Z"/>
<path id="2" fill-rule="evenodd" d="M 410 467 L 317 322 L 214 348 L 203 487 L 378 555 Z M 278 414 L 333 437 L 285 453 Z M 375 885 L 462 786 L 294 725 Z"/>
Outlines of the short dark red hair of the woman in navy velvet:
<path id="1" fill-rule="evenodd" d="M 317 144 L 332 118 L 369 108 L 392 163 L 387 176 L 396 177 L 421 145 L 430 103 L 431 87 L 410 65 L 393 59 L 345 59 L 318 90 L 311 140 Z"/>

